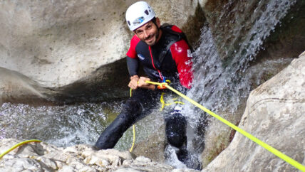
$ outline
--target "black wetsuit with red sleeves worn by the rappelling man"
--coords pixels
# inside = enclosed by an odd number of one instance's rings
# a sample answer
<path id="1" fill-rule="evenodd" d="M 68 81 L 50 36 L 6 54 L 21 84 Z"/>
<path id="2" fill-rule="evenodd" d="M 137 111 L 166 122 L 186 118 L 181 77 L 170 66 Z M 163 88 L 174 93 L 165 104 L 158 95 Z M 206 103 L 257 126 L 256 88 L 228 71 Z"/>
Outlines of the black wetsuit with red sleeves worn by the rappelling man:
<path id="1" fill-rule="evenodd" d="M 190 47 L 177 26 L 161 27 L 162 36 L 153 46 L 133 36 L 128 50 L 128 70 L 130 76 L 138 75 L 138 66 L 143 65 L 145 74 L 153 81 L 170 80 L 170 86 L 185 92 L 192 83 L 192 60 Z M 168 90 L 167 90 L 168 91 Z M 123 111 L 100 134 L 95 146 L 98 149 L 112 149 L 123 133 L 139 119 L 148 114 L 160 100 L 162 90 L 138 88 L 127 100 Z M 178 159 L 186 163 L 187 156 L 187 121 L 180 109 L 172 107 L 165 112 L 165 134 L 170 145 L 175 146 Z"/>

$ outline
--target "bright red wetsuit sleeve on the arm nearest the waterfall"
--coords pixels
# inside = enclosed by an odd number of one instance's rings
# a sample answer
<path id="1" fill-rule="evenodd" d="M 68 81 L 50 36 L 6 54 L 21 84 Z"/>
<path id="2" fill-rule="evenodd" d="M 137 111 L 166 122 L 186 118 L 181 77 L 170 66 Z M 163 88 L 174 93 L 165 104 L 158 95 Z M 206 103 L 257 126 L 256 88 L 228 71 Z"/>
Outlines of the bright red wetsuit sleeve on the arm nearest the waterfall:
<path id="1" fill-rule="evenodd" d="M 190 89 L 193 73 L 192 55 L 189 46 L 184 40 L 180 40 L 170 46 L 170 51 L 177 65 L 181 85 Z"/>

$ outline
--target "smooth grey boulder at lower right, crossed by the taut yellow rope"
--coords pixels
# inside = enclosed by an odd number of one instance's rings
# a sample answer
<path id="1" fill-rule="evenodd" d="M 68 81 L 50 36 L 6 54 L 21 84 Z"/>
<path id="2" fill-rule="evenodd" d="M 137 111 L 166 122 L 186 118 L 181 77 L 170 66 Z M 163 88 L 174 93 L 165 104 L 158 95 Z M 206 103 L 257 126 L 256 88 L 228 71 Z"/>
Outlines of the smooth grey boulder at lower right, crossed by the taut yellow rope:
<path id="1" fill-rule="evenodd" d="M 305 165 L 305 52 L 249 95 L 239 127 Z M 242 134 L 204 171 L 298 171 Z"/>

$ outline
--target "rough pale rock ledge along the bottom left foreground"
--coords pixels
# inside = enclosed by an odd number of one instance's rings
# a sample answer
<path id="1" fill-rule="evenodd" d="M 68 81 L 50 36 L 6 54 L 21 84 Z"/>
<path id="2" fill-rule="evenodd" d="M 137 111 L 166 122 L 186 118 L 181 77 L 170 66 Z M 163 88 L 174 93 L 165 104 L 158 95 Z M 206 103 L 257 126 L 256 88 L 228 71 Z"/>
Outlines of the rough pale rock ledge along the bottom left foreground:
<path id="1" fill-rule="evenodd" d="M 2 139 L 0 153 L 19 142 Z M 88 145 L 63 149 L 41 142 L 25 144 L 6 154 L 0 161 L 0 171 L 173 171 L 173 168 L 150 158 L 135 157 L 128 151 L 95 151 Z"/>

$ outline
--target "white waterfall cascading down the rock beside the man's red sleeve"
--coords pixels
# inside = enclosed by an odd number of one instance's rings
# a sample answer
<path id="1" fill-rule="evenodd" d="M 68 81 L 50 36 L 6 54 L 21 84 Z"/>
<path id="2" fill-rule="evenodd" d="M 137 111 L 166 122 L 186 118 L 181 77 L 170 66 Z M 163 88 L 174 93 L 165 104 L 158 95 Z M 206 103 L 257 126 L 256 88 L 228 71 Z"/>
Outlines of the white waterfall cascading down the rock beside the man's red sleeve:
<path id="1" fill-rule="evenodd" d="M 253 75 L 257 75 L 257 72 L 252 71 L 253 69 L 249 70 L 251 69 L 249 63 L 255 60 L 264 39 L 274 31 L 276 24 L 295 2 L 289 0 L 259 1 L 257 9 L 252 14 L 252 21 L 255 22 L 251 29 L 242 36 L 238 49 L 234 49 L 234 53 L 228 59 L 223 59 L 219 55 L 211 29 L 208 25 L 204 26 L 200 37 L 200 47 L 195 50 L 193 55 L 195 57 L 193 60 L 194 85 L 187 96 L 213 111 L 226 110 L 233 113 L 240 101 L 249 95 L 251 79 Z M 265 6 L 264 10 L 261 10 L 262 6 Z M 237 9 L 232 11 L 235 10 Z M 236 20 L 239 19 L 236 18 Z M 239 34 L 241 28 L 244 27 L 242 24 L 244 23 L 237 23 L 232 33 Z M 228 54 L 228 52 L 221 54 Z M 285 62 L 289 63 L 289 60 L 273 60 L 269 65 L 272 68 L 272 65 L 276 65 L 276 63 Z M 266 70 L 268 69 L 262 66 L 261 75 Z M 250 71 L 253 73 L 249 73 Z M 193 106 L 187 107 L 185 113 L 192 119 L 193 124 L 196 124 L 200 115 L 192 115 L 194 114 Z"/>

